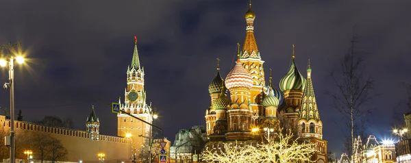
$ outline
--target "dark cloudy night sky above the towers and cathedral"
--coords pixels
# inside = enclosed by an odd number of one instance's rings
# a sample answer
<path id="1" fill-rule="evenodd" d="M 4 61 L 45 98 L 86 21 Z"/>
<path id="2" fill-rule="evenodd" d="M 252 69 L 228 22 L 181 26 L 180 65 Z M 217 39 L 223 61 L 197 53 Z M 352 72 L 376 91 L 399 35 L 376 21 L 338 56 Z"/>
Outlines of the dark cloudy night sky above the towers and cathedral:
<path id="1" fill-rule="evenodd" d="M 206 124 L 216 58 L 221 58 L 225 78 L 234 66 L 236 42 L 244 42 L 247 3 L 3 1 L 0 44 L 19 41 L 30 58 L 26 66 L 15 66 L 16 112 L 22 110 L 25 121 L 45 115 L 72 118 L 76 129 L 85 129 L 95 105 L 101 134 L 116 135 L 116 115 L 96 99 L 124 99 L 127 65 L 138 36 L 148 102 L 159 113 L 155 125 L 173 141 L 178 129 Z M 338 153 L 344 140 L 334 123 L 340 116 L 325 94 L 334 89 L 327 75 L 349 50 L 356 26 L 358 50 L 366 57 L 364 73 L 375 80 L 373 92 L 381 94 L 365 105 L 373 108 L 368 133 L 393 137 L 393 112 L 406 113 L 398 103 L 407 96 L 403 83 L 411 84 L 411 1 L 256 0 L 252 8 L 266 82 L 272 68 L 278 88 L 292 44 L 304 76 L 310 58 L 323 138 L 329 151 Z M 2 68 L 0 77 L 8 82 L 7 69 Z M 8 90 L 0 91 L 0 106 L 9 108 Z"/>

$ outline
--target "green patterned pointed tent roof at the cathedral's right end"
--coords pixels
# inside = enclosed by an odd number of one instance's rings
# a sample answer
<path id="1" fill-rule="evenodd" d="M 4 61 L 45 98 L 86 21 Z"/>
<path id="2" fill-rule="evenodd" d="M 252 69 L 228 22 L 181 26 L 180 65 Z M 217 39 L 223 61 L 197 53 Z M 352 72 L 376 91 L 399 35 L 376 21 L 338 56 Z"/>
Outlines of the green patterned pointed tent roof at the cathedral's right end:
<path id="1" fill-rule="evenodd" d="M 308 60 L 307 82 L 303 92 L 303 100 L 301 102 L 301 112 L 306 112 L 306 115 L 300 114 L 300 119 L 314 119 L 320 121 L 319 110 L 317 109 L 316 99 L 314 95 L 314 86 L 312 86 L 310 60 Z"/>

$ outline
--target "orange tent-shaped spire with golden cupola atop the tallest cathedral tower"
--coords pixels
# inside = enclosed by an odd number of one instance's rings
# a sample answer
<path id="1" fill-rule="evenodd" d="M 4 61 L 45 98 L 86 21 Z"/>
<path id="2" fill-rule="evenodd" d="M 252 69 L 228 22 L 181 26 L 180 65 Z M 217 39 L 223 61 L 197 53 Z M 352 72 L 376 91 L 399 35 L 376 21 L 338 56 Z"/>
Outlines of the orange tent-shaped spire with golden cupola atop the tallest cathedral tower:
<path id="1" fill-rule="evenodd" d="M 249 1 L 249 10 L 245 13 L 247 21 L 247 33 L 245 34 L 244 45 L 242 46 L 241 58 L 258 58 L 261 60 L 260 51 L 258 51 L 256 38 L 254 37 L 254 18 L 256 14 L 251 10 L 251 0 Z"/>

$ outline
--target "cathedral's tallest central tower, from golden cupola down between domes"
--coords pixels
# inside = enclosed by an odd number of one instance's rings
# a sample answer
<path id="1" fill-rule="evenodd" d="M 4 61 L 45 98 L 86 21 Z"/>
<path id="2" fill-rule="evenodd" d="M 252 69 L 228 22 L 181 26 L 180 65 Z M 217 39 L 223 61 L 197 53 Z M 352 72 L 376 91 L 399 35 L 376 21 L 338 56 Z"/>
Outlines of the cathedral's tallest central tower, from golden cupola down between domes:
<path id="1" fill-rule="evenodd" d="M 247 22 L 244 45 L 240 54 L 240 62 L 242 66 L 251 75 L 253 86 L 251 87 L 250 103 L 253 111 L 253 119 L 262 118 L 264 110 L 262 107 L 262 98 L 266 90 L 264 79 L 264 61 L 261 60 L 260 51 L 258 51 L 256 38 L 254 37 L 254 19 L 256 14 L 251 10 L 251 1 L 249 10 L 245 13 L 245 21 Z M 259 122 L 259 121 L 257 121 Z"/>

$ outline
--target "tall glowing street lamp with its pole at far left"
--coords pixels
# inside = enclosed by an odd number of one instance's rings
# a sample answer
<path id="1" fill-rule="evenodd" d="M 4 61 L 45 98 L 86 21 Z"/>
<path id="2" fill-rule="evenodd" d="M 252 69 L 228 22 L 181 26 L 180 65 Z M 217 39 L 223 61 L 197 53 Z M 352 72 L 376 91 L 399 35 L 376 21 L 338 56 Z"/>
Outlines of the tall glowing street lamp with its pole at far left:
<path id="1" fill-rule="evenodd" d="M 15 47 L 20 46 L 20 43 L 16 43 L 12 45 L 10 42 L 9 45 L 0 45 L 0 66 L 6 66 L 8 63 L 9 66 L 9 82 L 5 83 L 3 88 L 7 89 L 10 88 L 10 163 L 14 163 L 14 151 L 16 151 L 16 147 L 14 145 L 14 60 L 17 61 L 18 64 L 23 64 L 24 58 L 21 55 L 15 56 Z M 8 58 L 4 59 L 3 57 L 3 50 L 6 49 L 8 51 Z"/>

